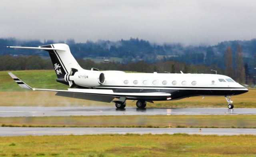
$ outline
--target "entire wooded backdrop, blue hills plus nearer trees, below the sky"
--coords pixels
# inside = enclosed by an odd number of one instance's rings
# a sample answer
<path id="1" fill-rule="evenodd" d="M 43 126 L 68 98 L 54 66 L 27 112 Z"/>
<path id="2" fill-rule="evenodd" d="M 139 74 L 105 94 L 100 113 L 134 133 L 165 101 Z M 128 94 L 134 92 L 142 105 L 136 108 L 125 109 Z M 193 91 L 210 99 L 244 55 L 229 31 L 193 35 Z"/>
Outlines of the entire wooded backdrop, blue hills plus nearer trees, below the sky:
<path id="1" fill-rule="evenodd" d="M 52 43 L 55 42 L 53 40 L 40 42 L 39 40 L 20 41 L 15 38 L 0 38 L 0 70 L 51 69 L 51 61 L 49 59 L 42 59 L 44 56 L 48 57 L 47 52 L 22 49 L 17 51 L 4 48 L 4 46 L 37 47 Z M 238 82 L 246 84 L 256 83 L 254 79 L 254 75 L 256 74 L 256 70 L 254 69 L 256 68 L 256 39 L 249 41 L 226 41 L 220 42 L 214 46 L 183 46 L 182 44 L 159 45 L 152 44 L 146 40 L 139 40 L 138 38 L 130 38 L 129 40 L 119 40 L 116 42 L 98 40 L 97 42 L 87 41 L 84 43 L 76 43 L 74 39 L 68 39 L 66 42 L 59 41 L 57 43 L 68 44 L 74 57 L 80 58 L 80 63 L 84 64 L 84 66 L 92 64 L 92 67 L 99 67 L 101 70 L 114 68 L 113 70 L 134 71 L 128 68 L 133 65 L 146 65 L 148 67 L 148 71 L 146 71 L 141 67 L 136 68 L 136 66 L 134 66 L 135 71 L 138 72 L 175 71 L 177 73 L 183 70 L 190 73 L 205 73 L 205 71 L 209 69 L 214 69 L 218 71 L 218 74 L 225 74 Z M 23 54 L 24 56 L 12 57 L 9 56 L 9 54 L 12 56 Z M 42 58 L 38 55 L 42 56 Z M 158 55 L 164 56 L 162 61 L 157 59 Z M 97 56 L 119 57 L 123 59 L 123 62 L 96 64 L 90 61 L 85 62 L 81 59 L 84 57 Z M 136 63 L 131 63 L 131 61 Z M 171 62 L 177 64 L 180 68 L 168 65 Z M 168 66 L 165 66 L 165 64 Z M 198 68 L 202 65 L 208 67 L 208 69 L 204 68 L 207 69 L 204 72 L 201 72 L 202 68 Z"/>

